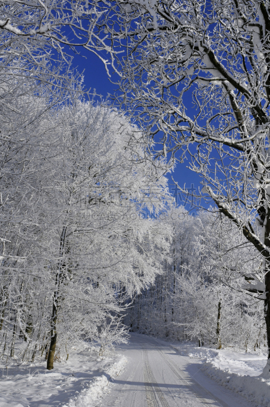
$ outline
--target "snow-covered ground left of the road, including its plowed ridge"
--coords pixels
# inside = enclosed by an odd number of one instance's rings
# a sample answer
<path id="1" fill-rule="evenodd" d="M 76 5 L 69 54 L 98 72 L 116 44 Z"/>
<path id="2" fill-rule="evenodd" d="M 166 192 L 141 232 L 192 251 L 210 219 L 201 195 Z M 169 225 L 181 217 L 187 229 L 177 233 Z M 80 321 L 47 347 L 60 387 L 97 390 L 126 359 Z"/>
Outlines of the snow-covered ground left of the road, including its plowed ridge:
<path id="1" fill-rule="evenodd" d="M 0 407 L 92 407 L 125 367 L 124 356 L 99 358 L 98 347 L 85 344 L 68 361 L 0 364 Z"/>

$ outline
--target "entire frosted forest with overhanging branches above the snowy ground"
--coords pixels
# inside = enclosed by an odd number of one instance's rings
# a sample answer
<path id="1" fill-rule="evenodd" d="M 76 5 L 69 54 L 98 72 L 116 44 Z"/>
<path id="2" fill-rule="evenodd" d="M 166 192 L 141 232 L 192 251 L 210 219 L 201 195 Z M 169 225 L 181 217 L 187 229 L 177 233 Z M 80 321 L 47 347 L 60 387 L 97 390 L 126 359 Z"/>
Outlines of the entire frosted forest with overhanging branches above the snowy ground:
<path id="1" fill-rule="evenodd" d="M 135 331 L 266 347 L 270 371 L 269 2 L 0 6 L 0 357 L 51 370 Z"/>

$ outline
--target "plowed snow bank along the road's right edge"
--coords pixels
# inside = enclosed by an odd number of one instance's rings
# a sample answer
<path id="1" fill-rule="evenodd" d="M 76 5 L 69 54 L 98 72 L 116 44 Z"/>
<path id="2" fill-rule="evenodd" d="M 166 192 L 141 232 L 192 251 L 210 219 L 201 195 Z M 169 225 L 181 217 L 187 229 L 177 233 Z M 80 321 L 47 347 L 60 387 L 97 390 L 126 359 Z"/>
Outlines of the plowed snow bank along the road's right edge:
<path id="1" fill-rule="evenodd" d="M 247 369 L 245 362 L 234 360 L 235 369 Z M 202 371 L 212 377 L 219 384 L 240 393 L 257 404 L 270 407 L 270 380 L 263 379 L 262 376 L 243 375 L 241 372 L 232 372 L 226 367 L 228 360 L 222 356 L 221 352 L 214 359 L 207 359 L 202 364 Z M 242 368 L 242 369 L 241 369 Z M 252 367 L 250 367 L 252 373 Z M 256 369 L 253 369 L 253 373 Z"/>

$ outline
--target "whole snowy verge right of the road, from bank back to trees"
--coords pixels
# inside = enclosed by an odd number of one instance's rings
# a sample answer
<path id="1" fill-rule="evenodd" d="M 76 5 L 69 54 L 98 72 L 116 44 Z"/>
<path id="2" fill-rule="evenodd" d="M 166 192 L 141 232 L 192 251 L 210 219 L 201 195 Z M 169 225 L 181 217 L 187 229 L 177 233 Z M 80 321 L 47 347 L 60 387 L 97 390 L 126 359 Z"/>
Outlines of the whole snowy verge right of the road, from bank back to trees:
<path id="1" fill-rule="evenodd" d="M 200 359 L 201 370 L 222 386 L 258 405 L 270 407 L 270 379 L 262 374 L 267 360 L 266 348 L 245 352 L 175 342 L 171 346 L 183 356 Z"/>

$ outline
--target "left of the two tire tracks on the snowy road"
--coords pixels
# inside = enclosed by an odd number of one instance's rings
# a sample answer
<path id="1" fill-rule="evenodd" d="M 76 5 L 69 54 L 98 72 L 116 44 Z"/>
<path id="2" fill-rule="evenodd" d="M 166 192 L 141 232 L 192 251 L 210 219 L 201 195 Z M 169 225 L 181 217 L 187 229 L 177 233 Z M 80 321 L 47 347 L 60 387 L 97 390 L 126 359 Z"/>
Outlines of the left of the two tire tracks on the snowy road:
<path id="1" fill-rule="evenodd" d="M 160 407 L 160 404 L 162 405 L 162 407 L 170 407 L 170 405 L 164 398 L 163 393 L 160 387 L 158 386 L 153 371 L 149 365 L 148 353 L 146 349 L 143 349 L 142 353 L 144 361 L 143 379 L 148 407 Z"/>

